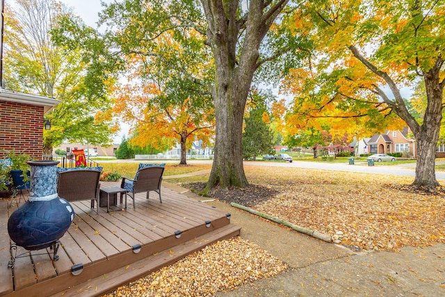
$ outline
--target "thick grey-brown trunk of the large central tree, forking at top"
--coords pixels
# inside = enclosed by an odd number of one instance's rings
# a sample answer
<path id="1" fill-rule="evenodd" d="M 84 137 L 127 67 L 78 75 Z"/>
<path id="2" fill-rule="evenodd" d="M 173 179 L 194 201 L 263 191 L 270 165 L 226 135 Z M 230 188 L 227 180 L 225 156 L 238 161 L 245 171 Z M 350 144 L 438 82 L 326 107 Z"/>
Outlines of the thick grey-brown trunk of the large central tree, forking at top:
<path id="1" fill-rule="evenodd" d="M 207 188 L 217 184 L 223 188 L 248 185 L 241 143 L 245 102 L 253 74 L 261 64 L 259 46 L 288 1 L 268 4 L 249 1 L 248 12 L 242 12 L 238 6 L 243 1 L 201 0 L 208 25 L 207 43 L 216 65 L 212 88 L 216 120 L 215 159 Z"/>

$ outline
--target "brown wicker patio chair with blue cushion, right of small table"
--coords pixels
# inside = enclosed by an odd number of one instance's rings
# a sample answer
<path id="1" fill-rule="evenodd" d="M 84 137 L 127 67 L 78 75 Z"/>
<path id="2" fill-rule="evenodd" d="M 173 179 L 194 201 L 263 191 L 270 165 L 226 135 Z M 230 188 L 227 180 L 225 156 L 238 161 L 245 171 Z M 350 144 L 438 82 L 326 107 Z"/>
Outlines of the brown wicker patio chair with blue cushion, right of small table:
<path id="1" fill-rule="evenodd" d="M 148 167 L 141 168 L 141 166 L 149 165 Z M 135 194 L 147 192 L 147 199 L 149 198 L 149 192 L 155 191 L 159 194 L 159 201 L 162 203 L 161 198 L 161 182 L 162 175 L 164 172 L 165 164 L 152 165 L 152 164 L 140 164 L 138 172 L 136 172 L 136 177 L 131 179 L 129 177 L 122 177 L 121 188 L 127 190 L 127 193 L 120 194 L 120 201 L 122 202 L 122 195 L 125 195 L 125 200 L 127 200 L 127 195 L 133 199 L 133 208 L 136 208 Z"/>

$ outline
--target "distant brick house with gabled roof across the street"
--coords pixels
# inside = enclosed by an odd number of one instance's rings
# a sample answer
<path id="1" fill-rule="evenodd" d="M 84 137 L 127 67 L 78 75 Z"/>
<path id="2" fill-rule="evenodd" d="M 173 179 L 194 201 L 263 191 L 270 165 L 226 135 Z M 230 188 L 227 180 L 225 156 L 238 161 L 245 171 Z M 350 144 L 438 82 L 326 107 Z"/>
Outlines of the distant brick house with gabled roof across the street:
<path id="1" fill-rule="evenodd" d="M 388 154 L 401 152 L 402 156 L 416 159 L 416 141 L 409 138 L 408 128 L 402 131 L 392 130 L 385 134 L 374 134 L 368 141 L 370 154 Z"/>

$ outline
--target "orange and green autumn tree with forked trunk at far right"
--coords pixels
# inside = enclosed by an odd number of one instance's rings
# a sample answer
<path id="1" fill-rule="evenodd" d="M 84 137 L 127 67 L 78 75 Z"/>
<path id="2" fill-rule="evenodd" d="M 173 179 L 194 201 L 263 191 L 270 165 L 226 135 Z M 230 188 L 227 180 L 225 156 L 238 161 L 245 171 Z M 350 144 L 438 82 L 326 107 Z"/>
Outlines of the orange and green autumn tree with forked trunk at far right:
<path id="1" fill-rule="evenodd" d="M 291 29 L 310 33 L 317 45 L 314 56 L 321 57 L 293 74 L 305 82 L 309 76 L 302 72 L 316 77 L 309 82 L 313 91 L 298 96 L 307 98 L 305 110 L 341 111 L 337 116 L 356 119 L 366 115 L 371 128 L 395 113 L 416 138 L 413 184 L 426 188 L 439 185 L 435 150 L 445 84 L 444 9 L 443 1 L 311 1 L 300 7 L 303 17 Z M 401 92 L 419 80 L 428 102 L 421 122 L 410 113 Z"/>

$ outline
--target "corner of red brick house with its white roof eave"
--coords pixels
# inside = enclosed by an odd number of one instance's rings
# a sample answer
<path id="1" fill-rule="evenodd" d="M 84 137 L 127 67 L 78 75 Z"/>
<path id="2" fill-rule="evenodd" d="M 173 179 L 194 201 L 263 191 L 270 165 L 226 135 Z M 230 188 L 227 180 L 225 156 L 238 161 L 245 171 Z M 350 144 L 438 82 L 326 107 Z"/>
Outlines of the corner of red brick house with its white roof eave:
<path id="1" fill-rule="evenodd" d="M 0 148 L 41 160 L 44 115 L 58 100 L 0 88 Z M 4 156 L 0 151 L 0 158 Z"/>

